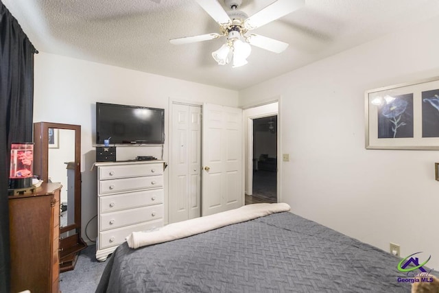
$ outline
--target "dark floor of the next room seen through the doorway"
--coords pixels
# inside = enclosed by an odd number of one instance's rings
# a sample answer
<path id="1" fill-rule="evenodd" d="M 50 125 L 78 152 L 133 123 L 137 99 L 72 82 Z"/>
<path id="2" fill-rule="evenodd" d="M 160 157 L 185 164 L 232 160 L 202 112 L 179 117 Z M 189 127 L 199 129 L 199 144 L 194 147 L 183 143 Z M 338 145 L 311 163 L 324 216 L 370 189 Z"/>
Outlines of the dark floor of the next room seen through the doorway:
<path id="1" fill-rule="evenodd" d="M 259 170 L 253 172 L 253 197 L 264 202 L 277 202 L 276 172 Z"/>

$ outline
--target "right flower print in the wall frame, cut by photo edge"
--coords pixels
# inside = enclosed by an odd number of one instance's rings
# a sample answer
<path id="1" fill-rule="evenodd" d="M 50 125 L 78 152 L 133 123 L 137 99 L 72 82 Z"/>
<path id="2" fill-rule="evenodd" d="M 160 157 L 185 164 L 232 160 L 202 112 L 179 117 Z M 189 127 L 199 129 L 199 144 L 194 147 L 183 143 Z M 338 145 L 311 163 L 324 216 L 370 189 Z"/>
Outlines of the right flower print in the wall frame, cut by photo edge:
<path id="1" fill-rule="evenodd" d="M 439 89 L 423 91 L 423 137 L 439 137 Z"/>

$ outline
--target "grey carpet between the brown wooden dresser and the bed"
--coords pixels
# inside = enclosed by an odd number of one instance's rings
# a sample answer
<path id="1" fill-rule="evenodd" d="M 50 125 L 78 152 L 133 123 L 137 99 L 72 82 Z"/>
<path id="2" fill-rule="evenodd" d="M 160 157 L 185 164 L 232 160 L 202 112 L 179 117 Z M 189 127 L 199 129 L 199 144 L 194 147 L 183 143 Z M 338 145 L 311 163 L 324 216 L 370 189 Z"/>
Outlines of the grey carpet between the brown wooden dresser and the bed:
<path id="1" fill-rule="evenodd" d="M 81 251 L 75 270 L 60 274 L 60 291 L 62 293 L 95 292 L 106 265 L 106 261 L 97 261 L 95 254 L 96 246 L 88 246 Z"/>

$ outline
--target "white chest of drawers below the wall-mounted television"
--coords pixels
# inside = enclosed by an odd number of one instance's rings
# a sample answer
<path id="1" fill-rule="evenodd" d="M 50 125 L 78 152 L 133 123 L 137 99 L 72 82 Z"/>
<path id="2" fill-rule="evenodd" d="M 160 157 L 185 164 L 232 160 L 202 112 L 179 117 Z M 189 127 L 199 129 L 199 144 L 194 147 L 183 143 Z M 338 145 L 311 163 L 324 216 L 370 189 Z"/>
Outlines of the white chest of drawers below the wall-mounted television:
<path id="1" fill-rule="evenodd" d="M 130 233 L 163 226 L 164 164 L 164 161 L 95 163 L 98 261 L 105 261 Z"/>

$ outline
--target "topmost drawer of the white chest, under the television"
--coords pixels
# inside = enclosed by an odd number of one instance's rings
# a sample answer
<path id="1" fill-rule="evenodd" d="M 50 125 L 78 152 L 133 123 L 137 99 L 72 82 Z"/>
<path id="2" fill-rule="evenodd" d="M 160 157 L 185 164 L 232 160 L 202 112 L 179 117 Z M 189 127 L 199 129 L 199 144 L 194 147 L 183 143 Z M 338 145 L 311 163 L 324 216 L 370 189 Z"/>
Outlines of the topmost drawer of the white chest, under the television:
<path id="1" fill-rule="evenodd" d="M 112 165 L 98 168 L 99 180 L 163 174 L 163 163 Z"/>

